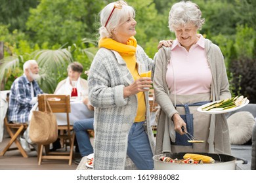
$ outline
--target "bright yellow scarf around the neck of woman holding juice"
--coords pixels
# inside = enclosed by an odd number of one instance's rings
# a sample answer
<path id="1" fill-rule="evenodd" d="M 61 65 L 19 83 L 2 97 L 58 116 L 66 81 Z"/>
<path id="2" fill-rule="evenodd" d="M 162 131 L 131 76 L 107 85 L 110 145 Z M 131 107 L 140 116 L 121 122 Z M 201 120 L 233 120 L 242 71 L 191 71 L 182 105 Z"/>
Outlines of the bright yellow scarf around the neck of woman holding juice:
<path id="1" fill-rule="evenodd" d="M 114 39 L 111 38 L 104 38 L 98 41 L 98 47 L 115 50 L 119 52 L 119 54 L 134 56 L 136 52 L 137 41 L 135 37 L 130 37 L 127 41 L 127 44 L 123 44 L 121 42 L 114 41 Z"/>

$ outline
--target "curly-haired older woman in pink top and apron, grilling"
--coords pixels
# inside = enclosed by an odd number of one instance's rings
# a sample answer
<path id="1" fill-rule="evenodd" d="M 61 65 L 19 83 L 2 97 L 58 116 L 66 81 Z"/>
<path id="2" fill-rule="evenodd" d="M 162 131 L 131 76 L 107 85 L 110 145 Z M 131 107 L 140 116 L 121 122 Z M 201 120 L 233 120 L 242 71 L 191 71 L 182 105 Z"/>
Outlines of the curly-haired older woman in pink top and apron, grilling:
<path id="1" fill-rule="evenodd" d="M 181 1 L 171 7 L 169 29 L 176 40 L 171 48 L 159 50 L 154 75 L 154 93 L 161 107 L 156 154 L 231 153 L 224 114 L 197 111 L 200 105 L 231 97 L 221 50 L 197 33 L 203 23 L 195 3 Z M 188 142 L 186 132 L 204 142 Z"/>

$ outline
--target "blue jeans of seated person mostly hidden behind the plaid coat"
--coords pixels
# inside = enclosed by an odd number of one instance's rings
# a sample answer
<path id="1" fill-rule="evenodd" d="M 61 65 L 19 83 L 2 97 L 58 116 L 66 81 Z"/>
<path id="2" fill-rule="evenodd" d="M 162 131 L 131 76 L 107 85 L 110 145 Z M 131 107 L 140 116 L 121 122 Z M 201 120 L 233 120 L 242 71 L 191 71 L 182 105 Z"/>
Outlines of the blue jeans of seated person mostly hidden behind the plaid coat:
<path id="1" fill-rule="evenodd" d="M 93 120 L 93 118 L 89 118 L 74 122 L 75 136 L 82 157 L 93 153 L 93 146 L 87 132 L 87 129 L 93 129 Z"/>

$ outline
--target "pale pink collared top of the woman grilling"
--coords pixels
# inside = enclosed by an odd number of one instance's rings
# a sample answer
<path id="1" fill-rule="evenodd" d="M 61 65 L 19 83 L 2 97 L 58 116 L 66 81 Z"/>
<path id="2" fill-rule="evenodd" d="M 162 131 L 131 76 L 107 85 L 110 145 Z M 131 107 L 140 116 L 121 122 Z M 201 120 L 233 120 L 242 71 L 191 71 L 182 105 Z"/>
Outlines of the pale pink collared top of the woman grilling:
<path id="1" fill-rule="evenodd" d="M 177 95 L 211 93 L 212 75 L 204 44 L 205 39 L 200 35 L 198 42 L 188 52 L 179 41 L 173 42 L 171 61 L 167 65 L 166 73 L 170 93 L 174 94 L 175 82 Z"/>

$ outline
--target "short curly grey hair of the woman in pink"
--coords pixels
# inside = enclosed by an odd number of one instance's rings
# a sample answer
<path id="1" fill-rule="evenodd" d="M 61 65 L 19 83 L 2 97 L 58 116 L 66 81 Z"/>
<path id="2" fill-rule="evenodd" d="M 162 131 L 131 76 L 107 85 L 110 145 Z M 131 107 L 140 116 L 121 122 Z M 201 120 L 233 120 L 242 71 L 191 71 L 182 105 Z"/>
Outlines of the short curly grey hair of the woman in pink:
<path id="1" fill-rule="evenodd" d="M 191 1 L 175 3 L 169 12 L 169 29 L 174 32 L 175 28 L 189 23 L 201 29 L 204 24 L 204 18 L 201 16 L 202 12 L 196 3 Z"/>

